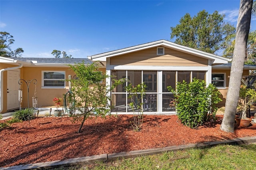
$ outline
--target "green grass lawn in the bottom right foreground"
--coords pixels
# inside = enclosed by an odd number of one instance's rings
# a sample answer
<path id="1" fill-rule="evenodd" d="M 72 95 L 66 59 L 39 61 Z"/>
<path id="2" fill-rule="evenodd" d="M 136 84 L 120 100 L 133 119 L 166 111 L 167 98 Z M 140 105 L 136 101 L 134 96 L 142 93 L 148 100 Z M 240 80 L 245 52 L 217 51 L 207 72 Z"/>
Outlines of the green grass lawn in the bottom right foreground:
<path id="1" fill-rule="evenodd" d="M 256 144 L 220 145 L 212 148 L 60 167 L 56 170 L 256 170 Z"/>

